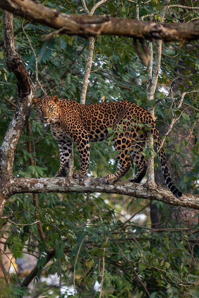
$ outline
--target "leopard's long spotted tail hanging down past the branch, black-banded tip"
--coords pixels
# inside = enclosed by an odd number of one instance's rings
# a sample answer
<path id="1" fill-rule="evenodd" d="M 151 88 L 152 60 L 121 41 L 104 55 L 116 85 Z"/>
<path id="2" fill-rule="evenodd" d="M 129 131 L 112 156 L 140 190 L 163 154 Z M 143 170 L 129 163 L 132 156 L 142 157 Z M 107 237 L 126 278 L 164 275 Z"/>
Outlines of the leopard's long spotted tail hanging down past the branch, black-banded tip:
<path id="1" fill-rule="evenodd" d="M 158 150 L 158 147 L 160 146 L 162 140 L 160 138 L 160 134 L 159 134 L 159 131 L 156 127 L 155 122 L 152 120 L 152 123 L 150 123 L 150 124 L 151 124 L 150 133 L 153 136 L 153 139 L 156 143 L 156 147 L 157 147 L 157 150 Z M 159 159 L 160 159 L 160 163 L 161 163 L 161 167 L 162 167 L 163 177 L 164 177 L 165 183 L 167 184 L 167 187 L 170 189 L 170 191 L 172 192 L 172 194 L 174 194 L 174 196 L 176 198 L 180 198 L 182 193 L 179 189 L 177 189 L 177 187 L 175 186 L 175 184 L 173 183 L 173 181 L 171 179 L 171 176 L 169 174 L 169 168 L 168 168 L 168 165 L 167 165 L 167 158 L 166 158 L 166 154 L 165 154 L 165 151 L 164 151 L 163 147 L 159 151 Z"/>

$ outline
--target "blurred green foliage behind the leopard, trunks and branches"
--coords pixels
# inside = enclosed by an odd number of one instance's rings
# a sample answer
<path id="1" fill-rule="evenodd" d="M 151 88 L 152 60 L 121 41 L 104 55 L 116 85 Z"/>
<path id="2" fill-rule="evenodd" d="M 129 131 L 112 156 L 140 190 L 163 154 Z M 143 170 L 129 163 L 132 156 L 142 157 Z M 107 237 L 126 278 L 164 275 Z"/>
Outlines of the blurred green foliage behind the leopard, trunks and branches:
<path id="1" fill-rule="evenodd" d="M 85 13 L 81 1 L 44 0 L 43 5 L 63 13 Z M 86 1 L 89 11 L 96 1 Z M 158 21 L 162 1 L 107 1 L 95 14 Z M 197 1 L 170 1 L 165 22 L 198 19 Z M 0 11 L 2 32 L 2 11 Z M 14 16 L 15 45 L 36 96 L 35 56 L 21 29 L 24 24 L 38 61 L 38 79 L 48 95 L 80 102 L 88 40 L 54 34 L 53 29 L 29 24 Z M 0 33 L 0 140 L 12 119 L 17 85 L 4 61 Z M 147 44 L 147 41 L 146 41 Z M 155 42 L 153 44 L 155 57 Z M 181 115 L 167 137 L 165 150 L 172 178 L 183 192 L 198 192 L 198 86 L 199 47 L 196 41 L 163 44 L 161 69 L 154 99 L 162 136 L 174 115 Z M 128 100 L 147 108 L 146 79 L 130 38 L 98 36 L 86 104 Z M 188 92 L 181 109 L 174 98 Z M 155 102 L 154 102 L 155 103 Z M 151 103 L 154 105 L 154 103 Z M 30 130 L 29 130 L 30 129 Z M 27 146 L 27 144 L 31 145 Z M 90 176 L 102 177 L 118 167 L 108 142 L 91 143 Z M 79 156 L 74 147 L 75 166 Z M 20 137 L 13 173 L 19 177 L 53 177 L 59 168 L 57 142 L 44 130 L 35 109 Z M 156 182 L 163 183 L 158 160 Z M 124 178 L 132 177 L 132 166 Z M 168 206 L 115 194 L 38 194 L 38 206 L 30 194 L 11 197 L 1 221 L 2 297 L 198 297 L 198 214 L 188 208 Z M 40 220 L 43 236 L 39 233 Z M 20 286 L 37 268 L 30 285 Z M 9 273 L 8 273 L 9 272 Z M 75 289 L 74 289 L 75 280 Z M 23 285 L 23 284 L 22 284 Z M 76 293 L 75 293 L 76 291 Z"/>

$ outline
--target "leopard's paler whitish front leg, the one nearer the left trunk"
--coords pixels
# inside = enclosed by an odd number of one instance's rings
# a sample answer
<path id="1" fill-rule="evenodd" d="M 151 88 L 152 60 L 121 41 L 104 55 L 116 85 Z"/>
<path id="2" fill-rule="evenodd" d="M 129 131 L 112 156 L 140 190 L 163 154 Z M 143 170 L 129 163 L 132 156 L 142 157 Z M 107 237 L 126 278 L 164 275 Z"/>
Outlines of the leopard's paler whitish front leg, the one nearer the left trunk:
<path id="1" fill-rule="evenodd" d="M 72 151 L 73 142 L 69 140 L 58 141 L 59 154 L 60 154 L 60 168 L 55 177 L 67 177 L 69 157 Z"/>

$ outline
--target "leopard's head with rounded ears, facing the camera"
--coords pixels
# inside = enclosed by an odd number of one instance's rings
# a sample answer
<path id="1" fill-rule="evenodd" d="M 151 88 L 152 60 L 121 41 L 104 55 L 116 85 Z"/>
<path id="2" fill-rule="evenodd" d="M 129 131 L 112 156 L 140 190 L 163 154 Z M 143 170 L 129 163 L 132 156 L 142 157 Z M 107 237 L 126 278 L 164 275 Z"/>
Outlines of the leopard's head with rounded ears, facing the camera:
<path id="1" fill-rule="evenodd" d="M 57 101 L 57 95 L 43 96 L 40 99 L 33 97 L 32 102 L 42 123 L 49 124 L 58 120 Z"/>

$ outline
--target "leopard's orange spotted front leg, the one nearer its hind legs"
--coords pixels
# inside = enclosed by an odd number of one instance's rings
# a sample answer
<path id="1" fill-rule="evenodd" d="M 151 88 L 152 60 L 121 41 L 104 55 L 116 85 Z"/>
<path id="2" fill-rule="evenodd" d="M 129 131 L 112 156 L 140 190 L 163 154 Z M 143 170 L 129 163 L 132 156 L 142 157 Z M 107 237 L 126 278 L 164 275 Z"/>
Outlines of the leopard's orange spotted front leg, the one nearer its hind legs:
<path id="1" fill-rule="evenodd" d="M 75 143 L 77 145 L 81 167 L 80 170 L 75 172 L 73 177 L 76 179 L 84 178 L 88 174 L 90 156 L 89 135 L 86 130 L 81 130 L 81 134 Z"/>

